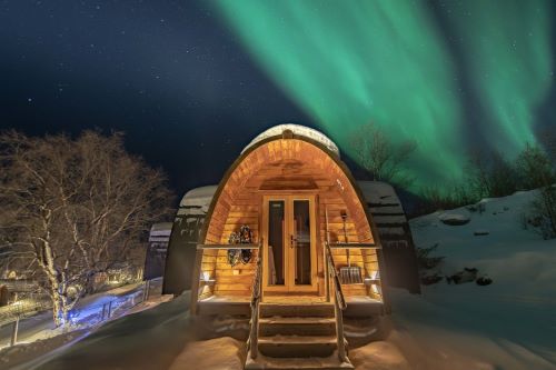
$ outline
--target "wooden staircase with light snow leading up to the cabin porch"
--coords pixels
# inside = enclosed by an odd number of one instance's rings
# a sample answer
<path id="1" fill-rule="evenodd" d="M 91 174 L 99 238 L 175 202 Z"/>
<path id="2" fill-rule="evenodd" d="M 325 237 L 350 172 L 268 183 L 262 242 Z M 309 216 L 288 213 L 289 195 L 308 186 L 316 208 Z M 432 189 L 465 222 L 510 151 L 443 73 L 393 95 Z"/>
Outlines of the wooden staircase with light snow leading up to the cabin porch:
<path id="1" fill-rule="evenodd" d="M 332 303 L 260 303 L 256 359 L 246 369 L 354 369 L 338 358 Z"/>

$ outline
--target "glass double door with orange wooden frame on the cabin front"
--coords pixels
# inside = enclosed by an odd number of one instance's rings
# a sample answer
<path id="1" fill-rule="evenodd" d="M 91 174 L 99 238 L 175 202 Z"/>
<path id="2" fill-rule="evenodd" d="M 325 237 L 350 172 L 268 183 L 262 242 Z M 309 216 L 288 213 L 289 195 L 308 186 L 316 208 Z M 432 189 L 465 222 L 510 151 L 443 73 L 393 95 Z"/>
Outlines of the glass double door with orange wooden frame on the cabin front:
<path id="1" fill-rule="evenodd" d="M 264 202 L 264 288 L 316 291 L 315 196 L 267 196 Z"/>

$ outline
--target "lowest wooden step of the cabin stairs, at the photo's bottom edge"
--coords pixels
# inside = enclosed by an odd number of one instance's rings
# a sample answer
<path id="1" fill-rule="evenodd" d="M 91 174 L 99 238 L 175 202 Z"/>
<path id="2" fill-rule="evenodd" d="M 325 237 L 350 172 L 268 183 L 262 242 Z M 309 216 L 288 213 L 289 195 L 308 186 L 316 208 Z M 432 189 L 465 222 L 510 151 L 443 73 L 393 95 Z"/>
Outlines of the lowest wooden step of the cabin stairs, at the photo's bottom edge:
<path id="1" fill-rule="evenodd" d="M 334 353 L 324 358 L 268 358 L 259 354 L 255 360 L 251 353 L 247 353 L 245 369 L 247 370 L 349 370 L 355 369 L 349 362 L 341 362 L 338 356 Z"/>

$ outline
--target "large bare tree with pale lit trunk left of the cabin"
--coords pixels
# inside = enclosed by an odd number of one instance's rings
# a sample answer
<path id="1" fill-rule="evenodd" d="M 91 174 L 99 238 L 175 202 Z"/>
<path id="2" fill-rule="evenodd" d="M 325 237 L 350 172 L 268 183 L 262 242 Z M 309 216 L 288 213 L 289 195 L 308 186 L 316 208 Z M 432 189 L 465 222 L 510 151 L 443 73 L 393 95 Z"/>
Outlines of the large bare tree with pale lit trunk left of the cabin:
<path id="1" fill-rule="evenodd" d="M 130 156 L 119 133 L 0 136 L 3 264 L 23 269 L 52 300 L 57 326 L 97 273 L 130 257 L 168 214 L 163 173 Z"/>

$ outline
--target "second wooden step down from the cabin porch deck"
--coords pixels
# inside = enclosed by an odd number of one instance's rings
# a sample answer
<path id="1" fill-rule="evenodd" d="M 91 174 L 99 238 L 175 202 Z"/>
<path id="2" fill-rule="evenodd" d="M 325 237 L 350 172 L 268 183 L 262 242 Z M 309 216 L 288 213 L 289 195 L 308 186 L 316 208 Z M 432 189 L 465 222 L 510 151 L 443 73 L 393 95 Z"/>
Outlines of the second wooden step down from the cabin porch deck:
<path id="1" fill-rule="evenodd" d="M 259 319 L 259 336 L 334 336 L 336 320 L 334 318 L 282 318 Z"/>

